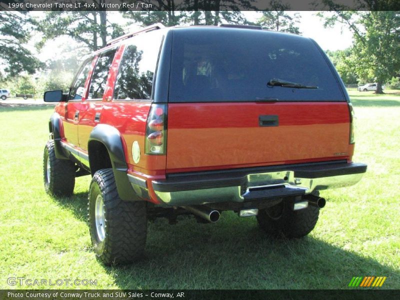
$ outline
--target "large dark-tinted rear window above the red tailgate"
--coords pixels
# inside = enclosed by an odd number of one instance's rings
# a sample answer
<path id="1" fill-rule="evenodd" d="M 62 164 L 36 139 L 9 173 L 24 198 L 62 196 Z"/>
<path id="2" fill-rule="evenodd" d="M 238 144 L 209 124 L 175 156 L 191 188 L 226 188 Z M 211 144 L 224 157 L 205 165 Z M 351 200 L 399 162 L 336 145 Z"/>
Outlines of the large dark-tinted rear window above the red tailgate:
<path id="1" fill-rule="evenodd" d="M 308 38 L 261 30 L 173 31 L 168 101 L 344 101 L 320 50 Z M 279 78 L 315 89 L 269 86 Z"/>

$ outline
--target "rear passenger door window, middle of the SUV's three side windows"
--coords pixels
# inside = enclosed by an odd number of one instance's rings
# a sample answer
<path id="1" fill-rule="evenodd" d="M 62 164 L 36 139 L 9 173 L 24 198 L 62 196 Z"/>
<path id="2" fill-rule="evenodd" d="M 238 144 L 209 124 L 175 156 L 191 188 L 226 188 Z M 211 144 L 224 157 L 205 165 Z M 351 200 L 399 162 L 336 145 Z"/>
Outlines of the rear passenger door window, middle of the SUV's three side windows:
<path id="1" fill-rule="evenodd" d="M 88 99 L 101 99 L 103 97 L 105 84 L 107 83 L 108 71 L 116 49 L 101 53 L 91 76 Z"/>

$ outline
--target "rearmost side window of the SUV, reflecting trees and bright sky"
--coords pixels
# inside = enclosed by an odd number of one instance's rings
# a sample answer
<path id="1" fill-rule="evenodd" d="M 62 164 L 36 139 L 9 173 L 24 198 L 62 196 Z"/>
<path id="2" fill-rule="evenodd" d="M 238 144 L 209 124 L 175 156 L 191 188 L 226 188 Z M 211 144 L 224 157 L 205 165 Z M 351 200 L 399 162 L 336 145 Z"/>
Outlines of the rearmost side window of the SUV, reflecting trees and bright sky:
<path id="1" fill-rule="evenodd" d="M 162 32 L 133 37 L 126 46 L 115 81 L 114 99 L 150 99 Z"/>

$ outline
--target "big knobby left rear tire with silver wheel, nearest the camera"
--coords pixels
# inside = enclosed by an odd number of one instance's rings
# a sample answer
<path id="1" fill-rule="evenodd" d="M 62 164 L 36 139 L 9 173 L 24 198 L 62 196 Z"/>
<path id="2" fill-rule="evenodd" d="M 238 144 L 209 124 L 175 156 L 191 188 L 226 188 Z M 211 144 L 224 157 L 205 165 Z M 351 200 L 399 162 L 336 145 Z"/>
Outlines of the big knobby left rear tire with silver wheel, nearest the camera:
<path id="1" fill-rule="evenodd" d="M 111 168 L 96 171 L 88 196 L 89 228 L 94 252 L 106 265 L 142 258 L 147 218 L 144 201 L 122 201 Z"/>

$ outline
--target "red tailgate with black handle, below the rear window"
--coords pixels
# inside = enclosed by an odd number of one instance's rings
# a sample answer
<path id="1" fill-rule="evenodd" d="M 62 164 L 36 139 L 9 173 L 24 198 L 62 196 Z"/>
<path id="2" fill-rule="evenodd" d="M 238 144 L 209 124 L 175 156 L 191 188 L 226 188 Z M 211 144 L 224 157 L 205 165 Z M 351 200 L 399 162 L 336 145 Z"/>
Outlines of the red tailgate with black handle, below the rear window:
<path id="1" fill-rule="evenodd" d="M 345 159 L 347 102 L 169 103 L 166 171 Z"/>

